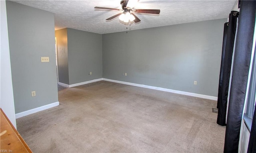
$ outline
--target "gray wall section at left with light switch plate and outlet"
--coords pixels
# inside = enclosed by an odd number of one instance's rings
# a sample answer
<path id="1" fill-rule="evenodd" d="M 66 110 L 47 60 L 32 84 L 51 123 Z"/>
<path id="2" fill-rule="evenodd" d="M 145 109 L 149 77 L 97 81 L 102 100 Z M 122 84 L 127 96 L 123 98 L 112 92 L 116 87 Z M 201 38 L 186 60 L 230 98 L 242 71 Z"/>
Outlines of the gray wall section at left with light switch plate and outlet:
<path id="1" fill-rule="evenodd" d="M 10 1 L 6 11 L 15 112 L 58 102 L 54 14 Z"/>

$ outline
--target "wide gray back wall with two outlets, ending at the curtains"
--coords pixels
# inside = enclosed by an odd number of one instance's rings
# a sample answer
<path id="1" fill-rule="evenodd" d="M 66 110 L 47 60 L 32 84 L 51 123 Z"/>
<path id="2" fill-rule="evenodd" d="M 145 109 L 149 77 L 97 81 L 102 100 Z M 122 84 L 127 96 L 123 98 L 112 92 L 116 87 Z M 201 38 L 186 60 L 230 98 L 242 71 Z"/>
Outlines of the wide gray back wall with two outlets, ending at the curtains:
<path id="1" fill-rule="evenodd" d="M 217 96 L 225 22 L 104 34 L 103 78 Z"/>

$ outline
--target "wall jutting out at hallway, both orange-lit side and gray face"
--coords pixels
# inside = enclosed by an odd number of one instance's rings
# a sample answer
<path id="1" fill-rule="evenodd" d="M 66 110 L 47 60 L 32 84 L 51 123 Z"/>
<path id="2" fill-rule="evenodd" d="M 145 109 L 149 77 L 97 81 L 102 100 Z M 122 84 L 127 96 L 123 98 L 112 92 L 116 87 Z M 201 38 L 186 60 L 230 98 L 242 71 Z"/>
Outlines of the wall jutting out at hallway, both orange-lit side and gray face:
<path id="1" fill-rule="evenodd" d="M 66 28 L 56 30 L 55 36 L 59 82 L 76 84 L 102 78 L 101 34 Z"/>

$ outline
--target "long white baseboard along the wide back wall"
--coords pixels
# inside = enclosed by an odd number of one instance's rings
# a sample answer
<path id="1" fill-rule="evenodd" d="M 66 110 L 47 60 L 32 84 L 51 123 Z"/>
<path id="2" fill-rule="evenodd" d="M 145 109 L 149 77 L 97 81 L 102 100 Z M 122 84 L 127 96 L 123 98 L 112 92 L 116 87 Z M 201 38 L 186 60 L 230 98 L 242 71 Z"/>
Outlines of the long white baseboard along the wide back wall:
<path id="1" fill-rule="evenodd" d="M 172 93 L 175 93 L 175 94 L 183 94 L 183 95 L 193 96 L 193 97 L 198 97 L 198 98 L 218 100 L 218 97 L 208 96 L 208 95 L 204 95 L 204 94 L 196 94 L 196 93 L 191 93 L 191 92 L 184 92 L 184 91 L 179 91 L 179 90 L 160 88 L 160 87 L 156 87 L 156 86 L 148 86 L 148 85 L 144 85 L 144 84 L 136 84 L 136 83 L 130 83 L 130 82 L 124 82 L 124 81 L 118 81 L 118 80 L 111 80 L 111 79 L 108 79 L 108 78 L 103 78 L 103 80 L 110 81 L 110 82 L 121 83 L 121 84 L 127 84 L 127 85 L 131 85 L 131 86 L 138 86 L 138 87 L 142 87 L 142 88 L 172 92 Z"/>

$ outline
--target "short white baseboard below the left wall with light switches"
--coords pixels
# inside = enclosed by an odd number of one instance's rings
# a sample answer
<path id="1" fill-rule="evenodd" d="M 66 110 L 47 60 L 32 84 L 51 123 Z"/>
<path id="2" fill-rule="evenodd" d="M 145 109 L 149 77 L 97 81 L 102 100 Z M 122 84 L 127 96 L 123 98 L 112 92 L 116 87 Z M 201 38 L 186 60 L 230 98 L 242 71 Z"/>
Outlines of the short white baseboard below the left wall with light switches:
<path id="1" fill-rule="evenodd" d="M 52 104 L 48 104 L 48 105 L 44 105 L 44 106 L 41 106 L 41 107 L 38 107 L 38 108 L 34 108 L 32 110 L 27 110 L 27 111 L 24 111 L 24 112 L 20 112 L 20 113 L 15 114 L 15 117 L 16 118 L 21 118 L 21 117 L 27 116 L 29 114 L 33 114 L 33 113 L 36 113 L 36 112 L 40 112 L 42 110 L 46 110 L 46 109 L 58 106 L 59 104 L 60 104 L 59 102 L 54 102 Z"/>

